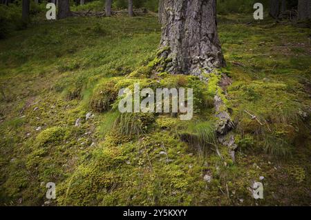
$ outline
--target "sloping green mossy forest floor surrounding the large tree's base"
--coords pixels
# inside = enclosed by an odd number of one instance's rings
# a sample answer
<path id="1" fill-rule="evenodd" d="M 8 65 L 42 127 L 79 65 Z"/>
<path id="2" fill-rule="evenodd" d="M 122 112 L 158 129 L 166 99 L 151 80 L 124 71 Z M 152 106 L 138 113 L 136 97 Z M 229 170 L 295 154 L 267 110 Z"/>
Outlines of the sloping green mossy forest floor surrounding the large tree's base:
<path id="1" fill-rule="evenodd" d="M 215 141 L 215 88 L 195 77 L 150 77 L 156 18 L 38 18 L 1 39 L 0 204 L 310 206 L 310 29 L 248 21 L 218 21 L 236 161 L 225 146 L 220 158 L 207 144 Z M 120 117 L 109 104 L 138 81 L 194 88 L 194 119 Z M 254 199 L 254 181 L 264 199 Z M 52 201 L 48 182 L 56 184 Z"/>

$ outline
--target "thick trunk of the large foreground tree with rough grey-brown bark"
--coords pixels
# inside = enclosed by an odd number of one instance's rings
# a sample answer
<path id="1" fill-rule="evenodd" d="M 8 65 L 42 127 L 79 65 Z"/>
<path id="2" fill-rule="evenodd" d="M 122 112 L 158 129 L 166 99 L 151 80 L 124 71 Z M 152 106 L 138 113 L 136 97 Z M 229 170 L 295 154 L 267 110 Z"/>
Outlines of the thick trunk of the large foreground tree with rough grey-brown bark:
<path id="1" fill-rule="evenodd" d="M 216 30 L 216 0 L 165 0 L 161 57 L 172 74 L 211 72 L 225 66 Z"/>

